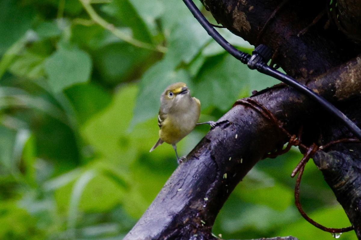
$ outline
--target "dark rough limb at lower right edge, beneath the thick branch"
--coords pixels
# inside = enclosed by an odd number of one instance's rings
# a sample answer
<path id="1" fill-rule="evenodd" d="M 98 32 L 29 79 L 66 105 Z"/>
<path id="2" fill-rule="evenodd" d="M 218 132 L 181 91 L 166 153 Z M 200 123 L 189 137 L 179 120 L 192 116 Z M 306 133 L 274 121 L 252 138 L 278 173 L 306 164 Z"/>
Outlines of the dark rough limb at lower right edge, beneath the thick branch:
<path id="1" fill-rule="evenodd" d="M 352 103 L 352 104 L 350 104 Z M 358 126 L 361 125 L 361 99 L 347 101 L 345 113 Z M 330 119 L 320 134 L 323 142 L 331 142 L 350 137 L 347 129 Z M 355 227 L 358 238 L 361 236 L 361 144 L 335 144 L 324 151 L 318 151 L 313 157 L 314 163 L 322 171 L 327 184 L 334 191 L 336 199 L 342 205 L 350 222 Z"/>

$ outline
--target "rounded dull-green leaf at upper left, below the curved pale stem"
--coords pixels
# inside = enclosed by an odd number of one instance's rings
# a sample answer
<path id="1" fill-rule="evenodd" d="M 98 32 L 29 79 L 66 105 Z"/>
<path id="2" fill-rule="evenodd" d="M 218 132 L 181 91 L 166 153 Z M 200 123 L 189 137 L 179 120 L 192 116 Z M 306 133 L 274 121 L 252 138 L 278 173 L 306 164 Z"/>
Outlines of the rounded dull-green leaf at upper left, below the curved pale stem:
<path id="1" fill-rule="evenodd" d="M 45 60 L 45 72 L 54 92 L 60 92 L 75 83 L 87 82 L 91 69 L 89 54 L 75 47 L 61 47 Z"/>

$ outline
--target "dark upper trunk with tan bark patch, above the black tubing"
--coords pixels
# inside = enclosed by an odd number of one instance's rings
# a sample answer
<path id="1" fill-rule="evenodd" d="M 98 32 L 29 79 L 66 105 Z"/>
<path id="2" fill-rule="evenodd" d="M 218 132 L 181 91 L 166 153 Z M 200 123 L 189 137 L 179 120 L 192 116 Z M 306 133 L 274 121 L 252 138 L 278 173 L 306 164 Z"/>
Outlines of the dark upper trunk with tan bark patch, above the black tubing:
<path id="1" fill-rule="evenodd" d="M 327 14 L 304 35 L 297 36 L 325 10 L 323 1 L 205 0 L 205 4 L 217 22 L 236 35 L 251 44 L 265 44 L 273 49 L 275 63 L 300 81 L 355 56 L 353 44 L 335 27 L 323 29 Z"/>

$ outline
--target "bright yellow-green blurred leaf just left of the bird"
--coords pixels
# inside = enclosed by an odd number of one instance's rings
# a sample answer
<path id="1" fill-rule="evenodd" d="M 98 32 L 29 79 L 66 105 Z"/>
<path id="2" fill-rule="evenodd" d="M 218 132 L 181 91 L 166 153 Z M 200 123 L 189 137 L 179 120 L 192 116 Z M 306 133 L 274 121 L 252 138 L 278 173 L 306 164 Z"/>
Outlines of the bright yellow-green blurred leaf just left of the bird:
<path id="1" fill-rule="evenodd" d="M 136 156 L 127 128 L 132 118 L 132 109 L 137 87 L 126 85 L 114 94 L 112 102 L 82 126 L 83 138 L 95 149 L 100 159 L 114 166 L 126 168 Z M 121 160 L 119 160 L 119 157 Z"/>

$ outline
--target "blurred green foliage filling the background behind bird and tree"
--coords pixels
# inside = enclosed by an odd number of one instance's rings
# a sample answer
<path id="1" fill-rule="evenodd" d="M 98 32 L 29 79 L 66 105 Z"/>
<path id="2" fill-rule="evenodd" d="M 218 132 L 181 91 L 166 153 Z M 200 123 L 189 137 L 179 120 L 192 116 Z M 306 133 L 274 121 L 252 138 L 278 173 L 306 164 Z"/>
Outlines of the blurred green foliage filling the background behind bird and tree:
<path id="1" fill-rule="evenodd" d="M 277 83 L 226 54 L 180 0 L 0 6 L 0 239 L 122 239 L 177 167 L 169 145 L 149 153 L 162 90 L 186 82 L 202 103 L 200 120 L 208 121 L 251 90 Z M 197 127 L 179 153 L 206 131 Z M 258 163 L 219 213 L 214 233 L 331 239 L 293 205 L 289 175 L 300 158 L 292 150 Z M 312 163 L 301 190 L 312 218 L 349 225 Z"/>

